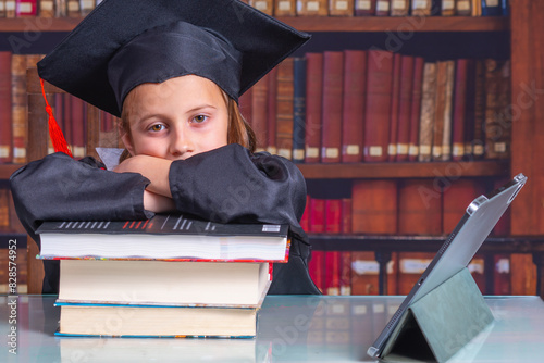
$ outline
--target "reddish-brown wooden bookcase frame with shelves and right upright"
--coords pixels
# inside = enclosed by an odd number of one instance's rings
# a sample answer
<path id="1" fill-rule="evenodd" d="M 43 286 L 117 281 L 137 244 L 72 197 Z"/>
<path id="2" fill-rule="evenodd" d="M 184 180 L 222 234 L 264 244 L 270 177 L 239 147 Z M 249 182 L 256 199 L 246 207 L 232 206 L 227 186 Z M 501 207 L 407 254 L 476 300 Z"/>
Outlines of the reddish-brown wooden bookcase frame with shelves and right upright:
<path id="1" fill-rule="evenodd" d="M 310 33 L 350 33 L 350 34 L 382 34 L 387 32 L 415 32 L 421 34 L 434 34 L 435 37 L 450 34 L 508 34 L 511 51 L 511 102 L 520 104 L 519 98 L 524 96 L 526 103 L 529 103 L 528 87 L 540 90 L 544 88 L 544 77 L 542 76 L 543 64 L 541 63 L 542 32 L 544 24 L 541 24 L 539 16 L 544 14 L 544 3 L 530 0 L 511 0 L 510 16 L 431 16 L 431 17 L 279 17 L 279 20 L 294 26 L 297 29 Z M 2 34 L 24 33 L 28 30 L 38 32 L 70 32 L 82 17 L 27 17 L 27 18 L 2 18 L 0 21 L 0 37 Z M 530 26 L 528 26 L 530 25 Z M 418 41 L 418 40 L 416 40 Z M 51 45 L 52 47 L 53 45 Z M 521 95 L 521 96 L 520 96 Z M 535 97 L 539 97 L 537 93 Z M 534 96 L 534 95 L 533 95 Z M 535 101 L 533 99 L 533 101 Z M 518 197 L 512 205 L 511 213 L 511 235 L 516 236 L 541 236 L 544 235 L 544 225 L 541 221 L 544 217 L 544 198 L 542 196 L 542 184 L 544 182 L 544 170 L 536 158 L 528 155 L 541 155 L 544 153 L 544 145 L 534 142 L 539 136 L 544 135 L 544 125 L 536 123 L 544 114 L 544 105 L 532 102 L 530 107 L 522 110 L 520 116 L 512 126 L 512 153 L 510 160 L 484 160 L 474 161 L 470 165 L 462 162 L 430 162 L 430 163 L 361 163 L 361 164 L 298 164 L 305 177 L 309 180 L 357 180 L 368 178 L 433 178 L 436 174 L 447 174 L 452 167 L 463 167 L 462 177 L 478 177 L 493 179 L 497 177 L 508 177 L 510 174 L 523 172 L 529 176 L 529 183 L 523 192 Z M 467 167 L 465 167 L 467 166 Z M 0 179 L 8 179 L 9 176 L 21 165 L 0 165 Z M 335 243 L 339 239 L 353 236 L 333 236 L 324 239 L 312 236 L 312 240 L 322 246 Z M 393 239 L 395 236 L 393 236 Z M 430 236 L 429 238 L 434 238 Z M 355 238 L 360 242 L 360 238 Z M 364 242 L 364 241 L 362 241 Z M 323 245 L 324 243 L 324 245 Z M 364 242 L 366 243 L 366 242 Z M 500 246 L 494 243 L 493 246 Z M 527 265 L 531 261 L 531 250 L 518 250 L 515 265 Z M 540 253 L 540 252 L 539 252 Z M 516 293 L 534 293 L 535 279 L 534 271 L 526 268 L 521 276 L 512 279 L 512 286 L 519 286 Z M 514 277 L 512 277 L 514 278 Z M 542 284 L 542 281 L 540 283 Z M 541 289 L 542 291 L 542 289 Z"/>

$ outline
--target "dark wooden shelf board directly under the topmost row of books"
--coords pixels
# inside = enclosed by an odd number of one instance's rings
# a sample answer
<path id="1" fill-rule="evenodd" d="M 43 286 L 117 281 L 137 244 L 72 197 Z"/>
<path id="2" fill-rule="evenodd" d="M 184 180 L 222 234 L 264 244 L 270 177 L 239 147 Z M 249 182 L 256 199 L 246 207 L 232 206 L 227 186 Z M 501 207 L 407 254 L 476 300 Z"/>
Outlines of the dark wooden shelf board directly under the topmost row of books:
<path id="1" fill-rule="evenodd" d="M 70 32 L 83 17 L 2 18 L 0 32 Z M 500 32 L 505 16 L 282 16 L 280 21 L 305 32 Z"/>

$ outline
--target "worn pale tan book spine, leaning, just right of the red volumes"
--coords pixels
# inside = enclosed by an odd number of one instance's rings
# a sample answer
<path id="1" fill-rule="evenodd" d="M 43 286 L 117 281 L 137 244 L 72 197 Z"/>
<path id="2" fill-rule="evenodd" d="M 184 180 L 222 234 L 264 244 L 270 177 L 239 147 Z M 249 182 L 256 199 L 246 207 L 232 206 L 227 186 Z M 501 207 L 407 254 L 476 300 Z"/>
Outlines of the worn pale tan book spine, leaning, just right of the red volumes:
<path id="1" fill-rule="evenodd" d="M 431 161 L 436 105 L 436 63 L 425 63 L 421 91 L 421 118 L 419 126 L 419 161 Z"/>

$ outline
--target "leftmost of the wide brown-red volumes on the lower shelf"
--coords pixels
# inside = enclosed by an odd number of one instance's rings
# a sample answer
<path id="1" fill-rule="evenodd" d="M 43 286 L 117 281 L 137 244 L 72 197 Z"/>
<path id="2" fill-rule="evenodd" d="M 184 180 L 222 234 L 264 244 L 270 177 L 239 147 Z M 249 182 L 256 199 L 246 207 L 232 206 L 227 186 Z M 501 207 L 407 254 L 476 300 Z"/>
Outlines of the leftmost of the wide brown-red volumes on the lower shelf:
<path id="1" fill-rule="evenodd" d="M 356 180 L 353 185 L 351 202 L 354 233 L 397 233 L 396 180 Z"/>

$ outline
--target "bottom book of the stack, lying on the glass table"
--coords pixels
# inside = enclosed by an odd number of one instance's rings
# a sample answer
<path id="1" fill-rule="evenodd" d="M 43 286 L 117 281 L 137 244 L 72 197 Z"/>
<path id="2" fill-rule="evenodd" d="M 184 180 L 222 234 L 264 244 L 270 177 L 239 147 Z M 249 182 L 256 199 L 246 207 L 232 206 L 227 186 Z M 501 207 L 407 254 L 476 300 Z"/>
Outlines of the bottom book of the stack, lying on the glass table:
<path id="1" fill-rule="evenodd" d="M 60 306 L 60 336 L 238 337 L 257 333 L 257 309 L 74 304 Z"/>

